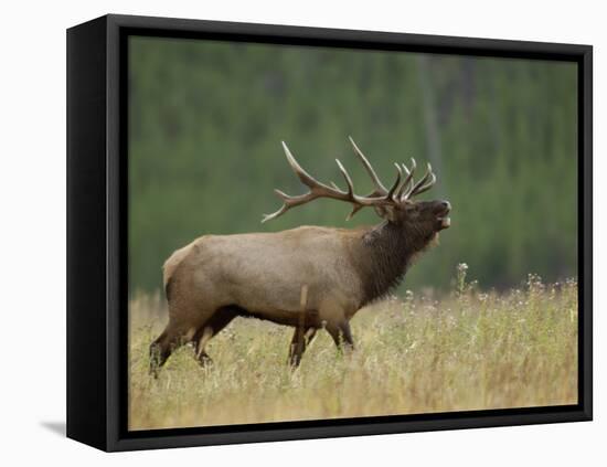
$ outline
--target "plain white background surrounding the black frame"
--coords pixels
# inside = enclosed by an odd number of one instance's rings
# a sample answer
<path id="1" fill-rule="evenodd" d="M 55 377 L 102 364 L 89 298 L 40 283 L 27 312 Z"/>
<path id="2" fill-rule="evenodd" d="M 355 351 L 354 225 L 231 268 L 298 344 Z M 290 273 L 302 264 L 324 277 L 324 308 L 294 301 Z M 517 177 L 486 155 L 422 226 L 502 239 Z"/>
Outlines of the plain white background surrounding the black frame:
<path id="1" fill-rule="evenodd" d="M 599 1 L 10 1 L 2 6 L 0 455 L 4 465 L 466 465 L 605 463 L 607 34 Z M 106 455 L 65 421 L 65 29 L 108 13 L 595 46 L 595 421 Z M 504 200 L 507 202 L 507 200 Z M 555 200 L 557 202 L 557 200 Z M 7 259 L 8 258 L 8 259 Z M 605 465 L 605 464 L 601 464 Z"/>

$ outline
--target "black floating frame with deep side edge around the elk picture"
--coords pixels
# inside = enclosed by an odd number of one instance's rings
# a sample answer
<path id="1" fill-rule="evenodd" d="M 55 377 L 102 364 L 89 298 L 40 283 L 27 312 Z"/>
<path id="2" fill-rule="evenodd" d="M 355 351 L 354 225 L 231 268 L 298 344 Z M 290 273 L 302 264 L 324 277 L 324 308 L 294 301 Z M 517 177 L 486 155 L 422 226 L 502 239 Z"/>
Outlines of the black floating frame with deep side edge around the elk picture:
<path id="1" fill-rule="evenodd" d="M 576 63 L 578 403 L 128 432 L 126 41 L 131 34 Z M 592 79 L 589 45 L 114 14 L 67 30 L 67 436 L 113 452 L 592 420 Z"/>

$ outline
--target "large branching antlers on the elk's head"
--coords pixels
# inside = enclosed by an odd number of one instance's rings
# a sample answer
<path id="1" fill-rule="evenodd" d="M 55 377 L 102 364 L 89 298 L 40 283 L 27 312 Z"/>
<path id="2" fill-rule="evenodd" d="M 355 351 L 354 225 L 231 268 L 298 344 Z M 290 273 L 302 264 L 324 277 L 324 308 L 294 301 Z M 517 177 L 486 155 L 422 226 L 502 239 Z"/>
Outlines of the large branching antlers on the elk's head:
<path id="1" fill-rule="evenodd" d="M 313 201 L 318 198 L 330 198 L 333 200 L 339 201 L 345 201 L 353 205 L 352 212 L 348 215 L 348 219 L 351 219 L 358 211 L 360 211 L 362 208 L 365 206 L 385 206 L 385 205 L 397 205 L 409 198 L 412 198 L 415 194 L 423 193 L 424 191 L 428 190 L 435 182 L 436 177 L 432 172 L 432 168 L 428 164 L 428 171 L 426 174 L 417 182 L 413 183 L 413 173 L 416 168 L 415 159 L 412 159 L 412 167 L 411 170 L 406 168 L 405 164 L 398 166 L 395 163 L 396 167 L 396 180 L 392 184 L 390 189 L 386 189 L 384 184 L 381 182 L 380 178 L 375 173 L 375 170 L 366 159 L 366 157 L 362 153 L 362 151 L 359 149 L 354 140 L 350 137 L 350 142 L 352 144 L 352 147 L 354 149 L 354 152 L 363 163 L 366 172 L 371 177 L 371 180 L 373 181 L 373 184 L 375 185 L 375 189 L 369 193 L 366 197 L 361 197 L 354 193 L 354 185 L 352 183 L 352 178 L 348 173 L 348 171 L 344 169 L 342 163 L 339 161 L 339 159 L 336 159 L 336 162 L 338 164 L 338 168 L 343 176 L 343 179 L 345 180 L 345 184 L 348 187 L 347 191 L 341 190 L 336 183 L 331 182 L 331 187 L 319 182 L 316 180 L 312 176 L 310 176 L 306 170 L 299 166 L 292 153 L 289 151 L 289 148 L 283 141 L 283 149 L 285 150 L 285 156 L 287 157 L 287 161 L 291 166 L 291 169 L 296 173 L 296 176 L 299 178 L 301 183 L 303 183 L 306 187 L 308 187 L 310 190 L 307 193 L 299 194 L 299 195 L 289 195 L 280 190 L 274 190 L 276 194 L 278 194 L 283 199 L 283 205 L 280 209 L 271 214 L 264 214 L 264 217 L 262 220 L 262 223 L 266 221 L 270 221 L 273 219 L 276 219 L 280 215 L 283 215 L 285 212 L 287 212 L 289 209 L 306 204 L 310 201 Z M 403 170 L 407 174 L 405 178 L 405 181 L 401 183 L 403 178 Z M 432 180 L 429 180 L 432 179 Z M 429 181 L 428 181 L 429 180 Z"/>

